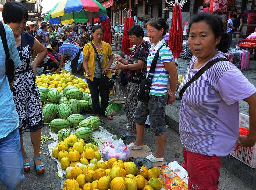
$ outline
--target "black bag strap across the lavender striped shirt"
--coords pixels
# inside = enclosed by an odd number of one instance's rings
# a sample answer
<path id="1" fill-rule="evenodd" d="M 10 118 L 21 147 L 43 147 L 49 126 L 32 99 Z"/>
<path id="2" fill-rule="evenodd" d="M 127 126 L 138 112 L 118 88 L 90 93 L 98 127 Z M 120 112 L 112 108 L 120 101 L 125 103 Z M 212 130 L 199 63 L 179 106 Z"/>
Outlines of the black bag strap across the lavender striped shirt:
<path id="1" fill-rule="evenodd" d="M 215 63 L 218 63 L 219 61 L 229 61 L 227 58 L 216 58 L 210 62 L 208 62 L 204 67 L 202 67 L 190 80 L 187 82 L 182 89 L 179 92 L 180 99 L 182 98 L 184 92 L 186 89 L 194 82 L 196 81 L 205 71 L 207 71 L 210 67 L 212 67 Z"/>

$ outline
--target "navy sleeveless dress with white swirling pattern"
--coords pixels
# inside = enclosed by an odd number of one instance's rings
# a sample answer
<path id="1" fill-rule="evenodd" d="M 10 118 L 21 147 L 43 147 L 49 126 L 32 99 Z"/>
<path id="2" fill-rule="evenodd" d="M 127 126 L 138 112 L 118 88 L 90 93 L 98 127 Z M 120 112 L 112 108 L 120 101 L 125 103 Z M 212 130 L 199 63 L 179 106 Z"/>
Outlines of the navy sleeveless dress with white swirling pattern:
<path id="1" fill-rule="evenodd" d="M 19 114 L 20 134 L 27 131 L 35 132 L 43 127 L 41 98 L 31 69 L 31 48 L 34 40 L 35 38 L 29 33 L 21 34 L 21 45 L 18 47 L 21 66 L 15 69 L 15 78 L 11 88 Z"/>

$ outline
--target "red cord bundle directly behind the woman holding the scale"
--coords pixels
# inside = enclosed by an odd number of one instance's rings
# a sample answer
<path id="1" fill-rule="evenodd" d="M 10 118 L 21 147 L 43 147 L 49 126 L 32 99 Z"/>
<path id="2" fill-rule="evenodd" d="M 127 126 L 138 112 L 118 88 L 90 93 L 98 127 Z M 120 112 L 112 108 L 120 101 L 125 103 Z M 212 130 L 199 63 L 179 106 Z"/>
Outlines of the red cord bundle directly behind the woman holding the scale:
<path id="1" fill-rule="evenodd" d="M 121 51 L 128 56 L 131 54 L 131 50 L 128 50 L 127 48 L 133 45 L 128 36 L 128 30 L 131 28 L 131 26 L 133 26 L 133 17 L 125 17 Z"/>

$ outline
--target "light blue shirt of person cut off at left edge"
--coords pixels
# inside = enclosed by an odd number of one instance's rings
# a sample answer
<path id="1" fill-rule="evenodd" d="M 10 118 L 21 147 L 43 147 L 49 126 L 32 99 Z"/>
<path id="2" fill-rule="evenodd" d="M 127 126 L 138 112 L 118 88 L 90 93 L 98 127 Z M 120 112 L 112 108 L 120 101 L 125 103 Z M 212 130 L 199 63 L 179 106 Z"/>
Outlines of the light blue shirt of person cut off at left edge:
<path id="1" fill-rule="evenodd" d="M 6 33 L 10 59 L 14 61 L 15 67 L 21 66 L 20 56 L 17 50 L 12 29 L 3 24 Z M 12 92 L 5 72 L 5 50 L 0 38 L 0 139 L 6 137 L 19 125 L 19 116 L 14 105 Z"/>

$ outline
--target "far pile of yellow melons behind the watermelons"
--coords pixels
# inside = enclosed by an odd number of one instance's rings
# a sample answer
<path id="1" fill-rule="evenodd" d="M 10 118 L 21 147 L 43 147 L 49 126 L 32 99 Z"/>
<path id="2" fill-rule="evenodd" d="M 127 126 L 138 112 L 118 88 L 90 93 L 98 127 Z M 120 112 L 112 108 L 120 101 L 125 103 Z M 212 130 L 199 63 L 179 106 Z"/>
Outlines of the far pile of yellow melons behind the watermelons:
<path id="1" fill-rule="evenodd" d="M 83 79 L 68 73 L 52 75 L 41 74 L 40 76 L 37 76 L 36 84 L 38 87 L 56 88 L 59 92 L 67 86 L 75 86 L 82 92 L 90 94 L 88 85 Z"/>

